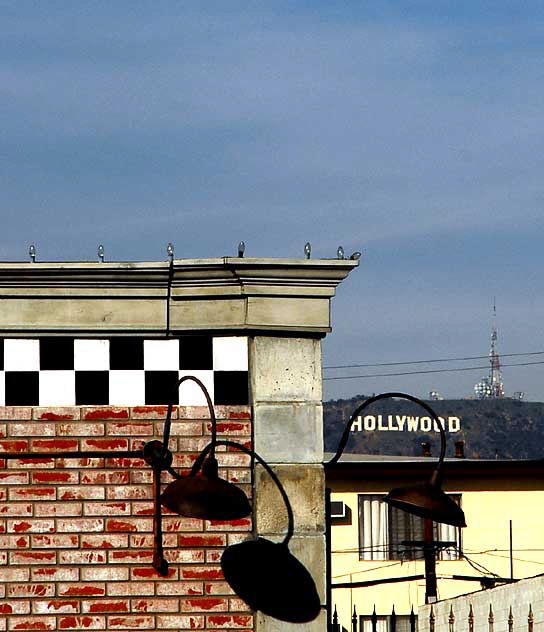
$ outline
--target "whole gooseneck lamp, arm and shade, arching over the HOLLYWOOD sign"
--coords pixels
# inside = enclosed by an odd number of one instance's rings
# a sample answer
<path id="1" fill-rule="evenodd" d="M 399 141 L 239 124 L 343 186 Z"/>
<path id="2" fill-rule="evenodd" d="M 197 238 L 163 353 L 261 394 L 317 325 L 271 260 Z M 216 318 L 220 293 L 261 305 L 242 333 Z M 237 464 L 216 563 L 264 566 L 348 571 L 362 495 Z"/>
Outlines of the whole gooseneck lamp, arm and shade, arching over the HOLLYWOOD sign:
<path id="1" fill-rule="evenodd" d="M 435 522 L 444 522 L 446 524 L 451 524 L 454 527 L 466 527 L 467 525 L 463 510 L 442 490 L 442 466 L 446 456 L 446 433 L 444 431 L 444 427 L 442 426 L 442 422 L 435 411 L 426 402 L 414 397 L 413 395 L 395 392 L 381 393 L 380 395 L 375 395 L 366 399 L 353 411 L 351 417 L 348 419 L 340 439 L 340 443 L 338 444 L 336 454 L 327 465 L 336 463 L 342 456 L 349 439 L 351 426 L 357 416 L 374 402 L 391 398 L 407 399 L 408 401 L 414 402 L 424 408 L 431 416 L 440 432 L 440 457 L 428 482 L 409 487 L 396 487 L 384 498 L 385 502 L 392 507 L 397 507 L 398 509 L 402 509 L 403 511 L 407 511 L 408 513 L 415 514 L 416 516 L 420 516 L 422 518 L 430 518 Z"/>

